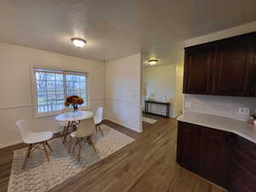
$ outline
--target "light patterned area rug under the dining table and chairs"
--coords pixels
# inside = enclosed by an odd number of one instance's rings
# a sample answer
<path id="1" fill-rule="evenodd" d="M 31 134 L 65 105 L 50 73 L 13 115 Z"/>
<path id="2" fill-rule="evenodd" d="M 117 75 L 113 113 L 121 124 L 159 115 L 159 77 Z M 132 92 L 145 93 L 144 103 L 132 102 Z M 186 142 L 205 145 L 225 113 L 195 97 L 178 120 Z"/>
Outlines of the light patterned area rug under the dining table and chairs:
<path id="1" fill-rule="evenodd" d="M 107 125 L 102 125 L 102 131 L 104 137 L 98 133 L 94 134 L 92 140 L 97 153 L 84 143 L 80 161 L 77 159 L 77 153 L 67 153 L 67 145 L 61 143 L 61 138 L 49 142 L 53 149 L 53 152 L 49 153 L 49 162 L 45 159 L 44 151 L 35 150 L 24 170 L 21 167 L 26 148 L 16 150 L 8 192 L 46 192 L 134 141 L 133 138 Z"/>

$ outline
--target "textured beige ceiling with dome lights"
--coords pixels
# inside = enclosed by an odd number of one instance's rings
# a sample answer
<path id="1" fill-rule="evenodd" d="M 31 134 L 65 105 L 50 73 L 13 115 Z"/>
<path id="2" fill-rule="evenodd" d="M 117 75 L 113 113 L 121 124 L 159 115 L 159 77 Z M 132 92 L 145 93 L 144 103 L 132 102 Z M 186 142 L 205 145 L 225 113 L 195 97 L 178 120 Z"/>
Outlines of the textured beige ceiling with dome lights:
<path id="1" fill-rule="evenodd" d="M 255 19 L 255 0 L 1 0 L 0 41 L 97 61 L 143 52 L 170 64 L 178 42 Z M 88 44 L 77 49 L 73 37 Z"/>

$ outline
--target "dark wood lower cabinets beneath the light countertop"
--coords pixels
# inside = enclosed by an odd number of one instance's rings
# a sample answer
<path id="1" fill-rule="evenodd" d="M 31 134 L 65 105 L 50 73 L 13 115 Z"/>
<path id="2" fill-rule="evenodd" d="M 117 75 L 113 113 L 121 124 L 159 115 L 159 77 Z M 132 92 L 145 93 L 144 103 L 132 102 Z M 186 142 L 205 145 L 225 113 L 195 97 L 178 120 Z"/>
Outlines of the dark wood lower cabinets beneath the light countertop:
<path id="1" fill-rule="evenodd" d="M 256 191 L 256 144 L 230 132 L 179 121 L 177 163 L 230 192 Z"/>

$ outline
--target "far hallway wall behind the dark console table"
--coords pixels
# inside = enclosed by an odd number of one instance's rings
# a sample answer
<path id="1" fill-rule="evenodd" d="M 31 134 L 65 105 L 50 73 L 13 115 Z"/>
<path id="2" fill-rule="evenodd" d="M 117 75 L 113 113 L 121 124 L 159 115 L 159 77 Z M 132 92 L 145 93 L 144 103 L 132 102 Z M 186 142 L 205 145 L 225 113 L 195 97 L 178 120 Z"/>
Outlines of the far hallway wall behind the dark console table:
<path id="1" fill-rule="evenodd" d="M 154 94 L 159 102 L 171 102 L 170 117 L 176 115 L 175 105 L 176 65 L 160 65 L 143 67 L 143 93 L 145 96 Z M 143 102 L 144 109 L 144 102 Z M 150 112 L 166 115 L 166 106 L 150 105 Z"/>

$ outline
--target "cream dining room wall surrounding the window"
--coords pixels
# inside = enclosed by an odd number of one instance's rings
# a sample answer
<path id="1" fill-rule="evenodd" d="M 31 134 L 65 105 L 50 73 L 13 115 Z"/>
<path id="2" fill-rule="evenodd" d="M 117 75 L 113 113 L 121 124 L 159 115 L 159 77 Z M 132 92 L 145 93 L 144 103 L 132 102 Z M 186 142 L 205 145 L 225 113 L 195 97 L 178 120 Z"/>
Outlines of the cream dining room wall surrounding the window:
<path id="1" fill-rule="evenodd" d="M 55 117 L 34 119 L 30 63 L 42 67 L 89 72 L 90 109 L 104 106 L 105 64 L 78 57 L 0 43 L 0 148 L 20 143 L 17 119 L 27 119 L 34 131 L 56 131 Z"/>

